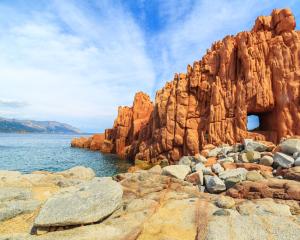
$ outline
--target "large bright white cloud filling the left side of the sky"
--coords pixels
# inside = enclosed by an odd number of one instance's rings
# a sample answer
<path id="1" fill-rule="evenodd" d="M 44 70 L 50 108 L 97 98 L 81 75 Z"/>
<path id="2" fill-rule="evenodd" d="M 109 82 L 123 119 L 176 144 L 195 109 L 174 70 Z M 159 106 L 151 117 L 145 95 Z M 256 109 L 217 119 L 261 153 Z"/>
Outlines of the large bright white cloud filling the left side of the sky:
<path id="1" fill-rule="evenodd" d="M 131 104 L 136 91 L 152 88 L 154 72 L 142 33 L 114 7 L 95 19 L 70 1 L 57 1 L 47 12 L 0 24 L 5 35 L 0 39 L 0 97 L 30 103 L 11 117 L 79 127 L 78 119 L 87 118 L 89 129 L 102 130 L 113 123 L 118 105 Z M 110 124 L 102 125 L 107 118 Z"/>

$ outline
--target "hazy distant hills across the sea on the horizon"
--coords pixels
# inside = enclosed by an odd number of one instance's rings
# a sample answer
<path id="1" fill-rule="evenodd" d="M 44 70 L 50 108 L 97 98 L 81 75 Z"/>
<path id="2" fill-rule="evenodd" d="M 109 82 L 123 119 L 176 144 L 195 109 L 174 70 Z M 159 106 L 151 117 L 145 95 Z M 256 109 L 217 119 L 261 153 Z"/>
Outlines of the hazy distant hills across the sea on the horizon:
<path id="1" fill-rule="evenodd" d="M 81 133 L 78 128 L 55 121 L 17 120 L 0 117 L 1 133 Z"/>

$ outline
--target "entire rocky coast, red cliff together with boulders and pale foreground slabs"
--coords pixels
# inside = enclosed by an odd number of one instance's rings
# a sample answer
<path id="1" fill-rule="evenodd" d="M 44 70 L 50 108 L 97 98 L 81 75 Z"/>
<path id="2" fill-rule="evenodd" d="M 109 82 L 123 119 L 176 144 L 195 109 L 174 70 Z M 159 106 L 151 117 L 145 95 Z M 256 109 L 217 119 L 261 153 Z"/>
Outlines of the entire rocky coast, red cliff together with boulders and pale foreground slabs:
<path id="1" fill-rule="evenodd" d="M 295 26 L 288 9 L 258 17 L 176 74 L 154 103 L 139 92 L 111 129 L 72 140 L 132 159 L 127 173 L 0 171 L 0 240 L 298 240 Z M 251 114 L 260 119 L 252 132 Z"/>

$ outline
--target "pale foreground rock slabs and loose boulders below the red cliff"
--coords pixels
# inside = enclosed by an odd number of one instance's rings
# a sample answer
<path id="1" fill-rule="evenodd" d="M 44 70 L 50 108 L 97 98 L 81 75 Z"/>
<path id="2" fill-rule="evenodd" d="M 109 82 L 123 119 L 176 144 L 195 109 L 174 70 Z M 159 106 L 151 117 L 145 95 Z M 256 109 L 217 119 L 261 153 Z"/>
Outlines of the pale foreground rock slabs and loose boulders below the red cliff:
<path id="1" fill-rule="evenodd" d="M 0 171 L 0 239 L 299 239 L 300 138 L 205 152 L 113 177 Z"/>

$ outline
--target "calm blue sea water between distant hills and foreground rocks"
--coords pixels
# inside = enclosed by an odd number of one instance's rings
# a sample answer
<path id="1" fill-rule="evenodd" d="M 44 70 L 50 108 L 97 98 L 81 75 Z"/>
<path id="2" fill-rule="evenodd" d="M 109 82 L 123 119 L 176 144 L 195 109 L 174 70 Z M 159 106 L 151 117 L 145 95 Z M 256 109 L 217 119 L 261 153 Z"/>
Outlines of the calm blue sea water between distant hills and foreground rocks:
<path id="1" fill-rule="evenodd" d="M 97 176 L 125 172 L 130 163 L 112 154 L 71 148 L 76 135 L 0 134 L 0 169 L 30 173 L 37 170 L 63 171 L 82 165 Z"/>

